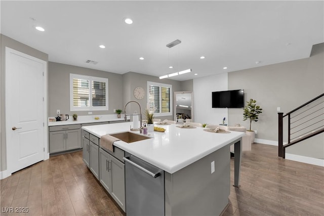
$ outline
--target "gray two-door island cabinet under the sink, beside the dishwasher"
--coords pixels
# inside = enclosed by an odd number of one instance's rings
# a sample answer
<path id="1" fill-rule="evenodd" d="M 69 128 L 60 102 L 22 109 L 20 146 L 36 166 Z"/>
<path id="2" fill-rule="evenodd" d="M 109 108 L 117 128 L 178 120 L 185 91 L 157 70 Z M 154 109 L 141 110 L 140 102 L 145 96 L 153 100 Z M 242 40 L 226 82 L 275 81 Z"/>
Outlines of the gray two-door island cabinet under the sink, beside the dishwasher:
<path id="1" fill-rule="evenodd" d="M 117 149 L 117 148 L 115 148 Z M 125 164 L 100 148 L 100 183 L 118 205 L 126 211 L 125 206 Z"/>

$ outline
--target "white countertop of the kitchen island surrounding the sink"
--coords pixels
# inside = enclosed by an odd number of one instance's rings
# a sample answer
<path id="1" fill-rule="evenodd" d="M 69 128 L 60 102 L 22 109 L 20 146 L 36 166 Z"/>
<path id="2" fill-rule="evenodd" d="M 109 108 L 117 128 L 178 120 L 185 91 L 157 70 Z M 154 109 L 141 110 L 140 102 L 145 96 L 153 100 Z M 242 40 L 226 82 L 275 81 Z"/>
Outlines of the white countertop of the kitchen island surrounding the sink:
<path id="1" fill-rule="evenodd" d="M 130 131 L 133 122 L 83 126 L 85 131 L 101 137 L 106 134 Z M 231 131 L 228 134 L 211 133 L 203 127 L 179 128 L 176 124 L 155 125 L 165 132 L 149 133 L 152 139 L 133 143 L 115 141 L 114 146 L 145 160 L 170 174 L 234 142 L 244 135 Z M 133 132 L 139 134 L 139 132 Z M 229 152 L 228 152 L 229 155 Z M 215 164 L 217 167 L 217 164 Z"/>

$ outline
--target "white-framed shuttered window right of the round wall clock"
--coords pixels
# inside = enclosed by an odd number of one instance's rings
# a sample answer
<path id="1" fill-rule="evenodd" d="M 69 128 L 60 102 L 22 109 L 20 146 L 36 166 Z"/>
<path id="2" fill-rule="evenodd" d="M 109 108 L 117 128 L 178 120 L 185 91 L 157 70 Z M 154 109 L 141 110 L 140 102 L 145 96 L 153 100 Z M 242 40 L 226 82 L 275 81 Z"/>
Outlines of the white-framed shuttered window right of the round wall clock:
<path id="1" fill-rule="evenodd" d="M 172 85 L 147 82 L 147 101 L 155 116 L 172 115 Z"/>

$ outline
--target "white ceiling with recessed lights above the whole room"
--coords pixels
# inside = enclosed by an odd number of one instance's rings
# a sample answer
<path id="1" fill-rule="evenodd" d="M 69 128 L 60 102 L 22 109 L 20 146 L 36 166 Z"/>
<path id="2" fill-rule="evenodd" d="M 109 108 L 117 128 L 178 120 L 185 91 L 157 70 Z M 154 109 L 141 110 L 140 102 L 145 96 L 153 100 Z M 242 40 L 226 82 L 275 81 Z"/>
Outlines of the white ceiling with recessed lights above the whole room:
<path id="1" fill-rule="evenodd" d="M 51 62 L 153 76 L 191 68 L 172 77 L 188 80 L 309 57 L 324 42 L 323 8 L 323 1 L 1 1 L 1 33 Z M 167 48 L 175 39 L 182 43 Z"/>

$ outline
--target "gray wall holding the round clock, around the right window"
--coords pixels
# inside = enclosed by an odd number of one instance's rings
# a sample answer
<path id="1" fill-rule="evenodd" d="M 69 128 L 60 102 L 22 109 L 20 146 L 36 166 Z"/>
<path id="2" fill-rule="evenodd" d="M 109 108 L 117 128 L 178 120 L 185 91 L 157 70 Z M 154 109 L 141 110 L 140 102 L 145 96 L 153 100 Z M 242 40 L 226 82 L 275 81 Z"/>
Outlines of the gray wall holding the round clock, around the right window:
<path id="1" fill-rule="evenodd" d="M 146 106 L 147 106 L 147 81 L 171 84 L 172 91 L 173 91 L 172 97 L 174 95 L 174 92 L 184 91 L 181 89 L 180 81 L 176 81 L 176 80 L 172 80 L 172 79 L 159 79 L 156 76 L 150 76 L 150 75 L 145 75 L 145 74 L 135 73 L 135 72 L 128 72 L 128 73 L 123 74 L 123 84 L 124 84 L 124 103 L 123 104 L 124 104 L 124 106 L 127 102 L 135 100 L 135 101 L 139 102 L 139 104 L 141 105 L 142 113 L 144 112 L 144 110 L 146 109 Z M 188 83 L 190 83 L 190 82 L 188 82 Z M 141 100 L 136 99 L 134 96 L 134 89 L 136 87 L 142 87 L 145 90 L 145 96 Z M 126 112 L 134 113 L 135 110 L 137 112 L 139 112 L 138 105 L 136 105 L 135 103 L 130 103 L 127 106 Z M 124 111 L 124 107 L 123 107 L 123 111 Z M 156 118 L 160 118 L 162 120 L 164 120 L 164 119 L 173 120 L 173 115 L 160 116 L 160 117 L 156 117 Z M 144 116 L 143 116 L 143 119 L 145 119 Z"/>

